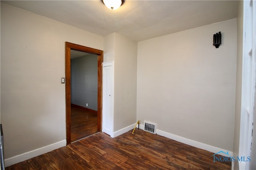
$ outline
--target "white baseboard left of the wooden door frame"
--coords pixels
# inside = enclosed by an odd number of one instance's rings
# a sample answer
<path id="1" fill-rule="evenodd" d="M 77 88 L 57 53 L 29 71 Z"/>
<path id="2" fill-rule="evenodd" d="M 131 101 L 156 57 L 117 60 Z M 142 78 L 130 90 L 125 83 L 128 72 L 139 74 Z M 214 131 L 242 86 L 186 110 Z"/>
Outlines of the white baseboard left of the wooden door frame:
<path id="1" fill-rule="evenodd" d="M 39 148 L 39 149 L 31 150 L 29 152 L 14 156 L 12 158 L 5 159 L 4 160 L 4 166 L 5 167 L 11 166 L 11 165 L 16 164 L 18 162 L 28 160 L 28 159 L 33 158 L 35 156 L 50 152 L 52 150 L 55 150 L 55 149 L 58 149 L 58 148 L 61 148 L 61 147 L 64 147 L 64 146 L 66 146 L 66 140 L 59 141 L 57 143 L 53 143 L 51 145 L 48 145 L 48 146 L 45 146 L 45 147 L 42 147 L 42 148 Z"/>

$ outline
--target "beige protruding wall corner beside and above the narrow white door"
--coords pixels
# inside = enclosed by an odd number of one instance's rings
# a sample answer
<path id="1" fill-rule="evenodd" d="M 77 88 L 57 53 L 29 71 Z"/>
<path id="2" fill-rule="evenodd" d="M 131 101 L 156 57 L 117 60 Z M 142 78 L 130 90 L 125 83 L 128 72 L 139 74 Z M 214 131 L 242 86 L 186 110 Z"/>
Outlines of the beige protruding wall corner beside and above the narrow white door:
<path id="1" fill-rule="evenodd" d="M 114 61 L 114 132 L 136 123 L 137 42 L 104 37 L 104 61 Z"/>

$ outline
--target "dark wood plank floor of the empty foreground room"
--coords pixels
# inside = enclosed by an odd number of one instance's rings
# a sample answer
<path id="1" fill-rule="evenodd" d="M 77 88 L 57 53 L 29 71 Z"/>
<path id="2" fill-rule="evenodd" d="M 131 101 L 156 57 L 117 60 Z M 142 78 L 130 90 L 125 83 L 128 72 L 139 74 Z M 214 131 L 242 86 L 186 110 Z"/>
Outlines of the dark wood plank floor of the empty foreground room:
<path id="1" fill-rule="evenodd" d="M 136 129 L 116 138 L 97 133 L 6 170 L 230 170 L 214 153 Z"/>

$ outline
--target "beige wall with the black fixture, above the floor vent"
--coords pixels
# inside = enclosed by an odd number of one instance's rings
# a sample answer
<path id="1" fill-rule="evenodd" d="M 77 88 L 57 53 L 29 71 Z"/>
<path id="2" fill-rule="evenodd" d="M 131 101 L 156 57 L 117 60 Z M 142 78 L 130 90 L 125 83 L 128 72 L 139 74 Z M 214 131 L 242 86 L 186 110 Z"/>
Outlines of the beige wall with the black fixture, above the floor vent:
<path id="1" fill-rule="evenodd" d="M 137 119 L 233 150 L 236 19 L 138 42 L 137 69 Z"/>

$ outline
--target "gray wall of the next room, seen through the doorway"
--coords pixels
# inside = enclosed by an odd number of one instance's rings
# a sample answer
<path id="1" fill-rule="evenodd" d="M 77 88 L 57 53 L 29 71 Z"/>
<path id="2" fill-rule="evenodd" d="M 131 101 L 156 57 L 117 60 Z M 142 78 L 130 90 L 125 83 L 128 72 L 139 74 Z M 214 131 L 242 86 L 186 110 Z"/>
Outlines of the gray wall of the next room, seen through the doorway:
<path id="1" fill-rule="evenodd" d="M 97 55 L 86 55 L 71 59 L 71 103 L 96 111 L 98 104 L 97 57 Z"/>

